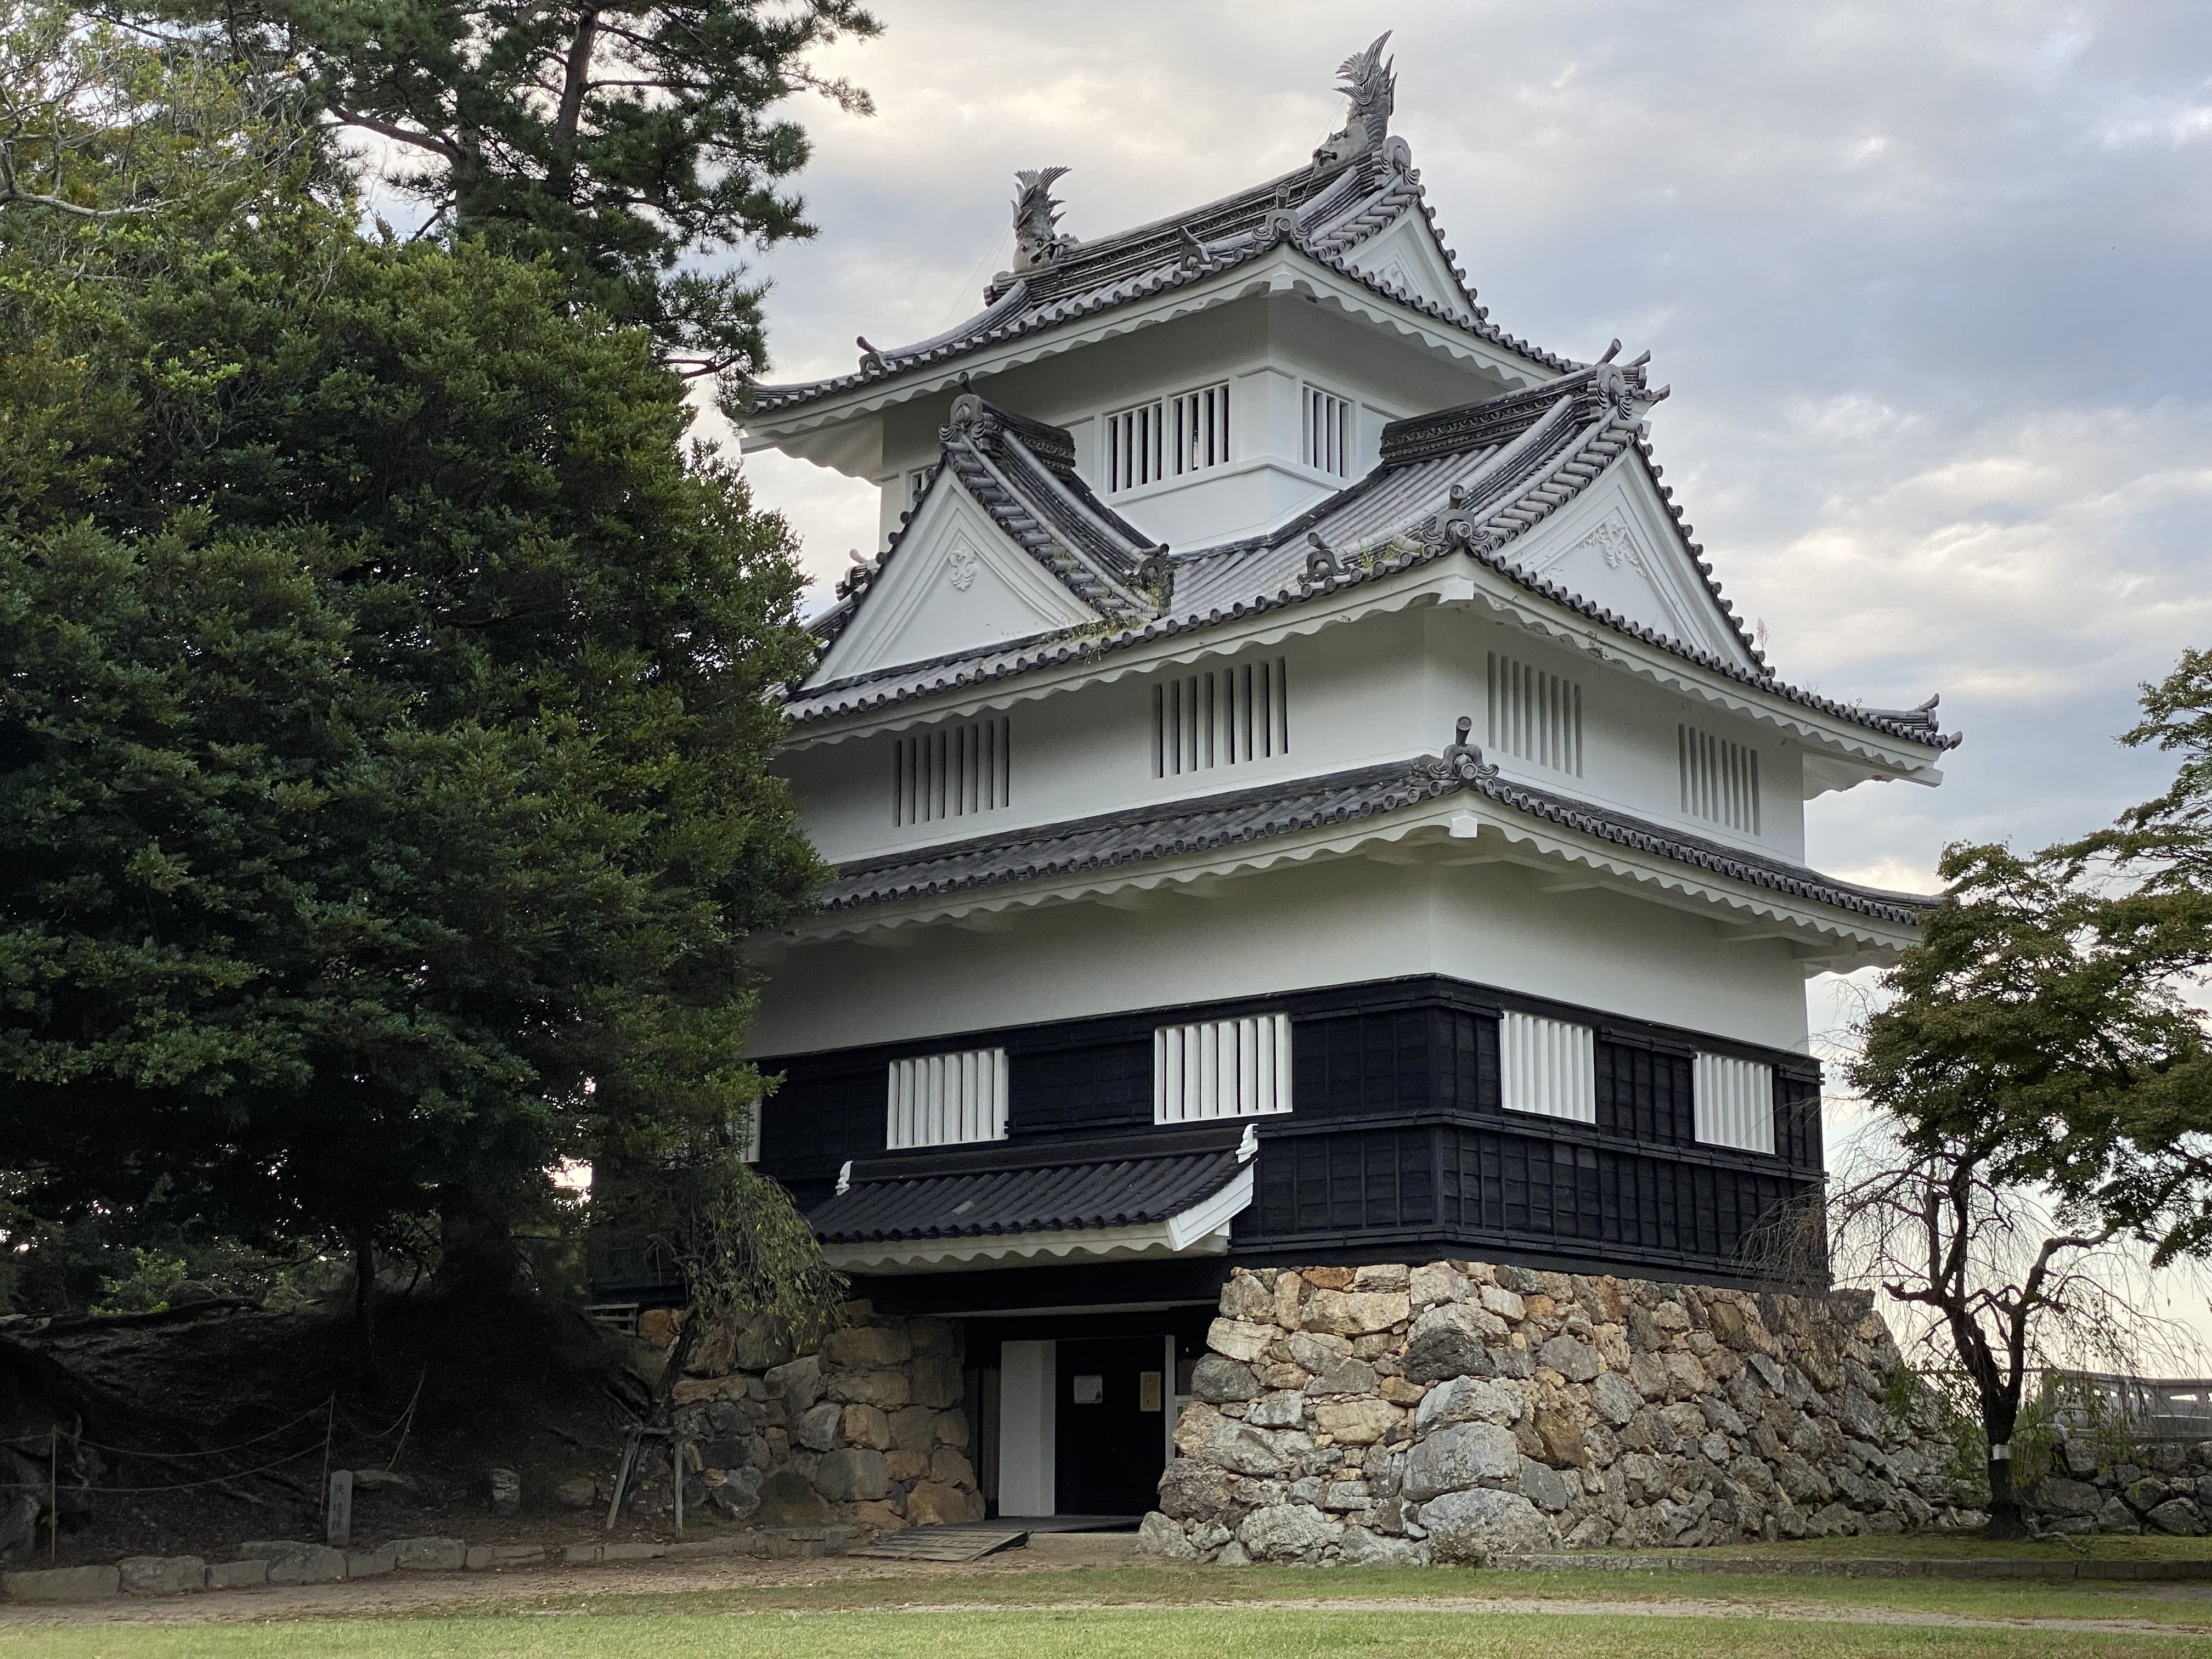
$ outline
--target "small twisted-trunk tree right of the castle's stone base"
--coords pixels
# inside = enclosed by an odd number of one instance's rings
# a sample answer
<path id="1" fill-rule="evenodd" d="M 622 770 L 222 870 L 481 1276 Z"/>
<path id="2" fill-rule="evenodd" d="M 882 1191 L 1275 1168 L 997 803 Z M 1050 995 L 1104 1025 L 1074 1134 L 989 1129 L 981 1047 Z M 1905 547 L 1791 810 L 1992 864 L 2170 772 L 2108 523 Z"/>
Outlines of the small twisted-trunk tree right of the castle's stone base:
<path id="1" fill-rule="evenodd" d="M 1944 852 L 1849 1071 L 1878 1121 L 1834 1194 L 1843 1254 L 1949 1347 L 1997 1535 L 2024 1533 L 2011 1442 L 2037 1365 L 2126 1363 L 2146 1329 L 2108 1248 L 2212 1243 L 2212 1044 L 2181 995 L 2208 960 L 2203 679 L 2192 655 L 2146 688 L 2128 734 L 2185 752 L 2166 796 L 2044 854 Z"/>

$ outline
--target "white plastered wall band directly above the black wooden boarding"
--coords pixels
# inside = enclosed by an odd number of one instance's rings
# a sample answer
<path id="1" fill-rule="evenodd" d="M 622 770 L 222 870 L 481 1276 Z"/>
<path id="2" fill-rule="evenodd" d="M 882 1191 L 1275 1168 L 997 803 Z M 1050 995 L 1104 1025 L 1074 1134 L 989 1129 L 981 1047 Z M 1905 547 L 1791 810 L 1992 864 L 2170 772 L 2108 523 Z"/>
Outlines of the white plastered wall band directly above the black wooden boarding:
<path id="1" fill-rule="evenodd" d="M 1338 858 L 1159 894 L 1055 905 L 1011 931 L 927 927 L 900 947 L 818 942 L 770 971 L 759 1055 L 984 1026 L 1179 1009 L 1442 973 L 1686 1031 L 1805 1046 L 1803 973 L 1778 940 L 1725 942 L 1703 916 L 1617 891 L 1542 891 L 1522 865 Z"/>

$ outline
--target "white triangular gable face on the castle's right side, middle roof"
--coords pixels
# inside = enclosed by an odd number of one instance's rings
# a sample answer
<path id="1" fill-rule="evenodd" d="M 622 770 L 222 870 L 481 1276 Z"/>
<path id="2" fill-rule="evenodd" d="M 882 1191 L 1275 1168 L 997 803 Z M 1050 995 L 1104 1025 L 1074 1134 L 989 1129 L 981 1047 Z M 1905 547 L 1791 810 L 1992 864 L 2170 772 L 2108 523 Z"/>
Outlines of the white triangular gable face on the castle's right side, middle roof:
<path id="1" fill-rule="evenodd" d="M 1513 562 L 1677 644 L 1756 670 L 1632 456 L 1571 509 L 1513 544 Z"/>

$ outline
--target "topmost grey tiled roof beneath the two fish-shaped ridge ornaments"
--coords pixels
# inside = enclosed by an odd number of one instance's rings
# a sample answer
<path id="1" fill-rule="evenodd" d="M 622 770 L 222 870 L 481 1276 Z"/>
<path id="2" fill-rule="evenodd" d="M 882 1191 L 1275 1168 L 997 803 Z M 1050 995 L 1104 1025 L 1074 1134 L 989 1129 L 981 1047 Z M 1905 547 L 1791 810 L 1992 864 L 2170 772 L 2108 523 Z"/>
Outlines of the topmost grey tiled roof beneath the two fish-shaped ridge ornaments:
<path id="1" fill-rule="evenodd" d="M 1420 175 L 1369 155 L 1338 170 L 1312 166 L 1256 184 L 1203 208 L 1159 219 L 1113 237 L 1075 243 L 1053 263 L 993 281 L 987 305 L 945 334 L 889 352 L 869 352 L 858 369 L 803 385 L 752 392 L 754 414 L 785 414 L 807 403 L 894 380 L 914 369 L 953 363 L 989 345 L 1095 316 L 1150 294 L 1208 281 L 1290 246 L 1374 294 L 1409 305 L 1462 334 L 1528 358 L 1548 369 L 1577 367 L 1489 321 L 1464 279 L 1453 272 L 1455 303 L 1425 301 L 1352 268 L 1345 254 L 1394 226 L 1409 210 L 1429 217 Z M 1429 219 L 1433 226 L 1433 219 Z"/>

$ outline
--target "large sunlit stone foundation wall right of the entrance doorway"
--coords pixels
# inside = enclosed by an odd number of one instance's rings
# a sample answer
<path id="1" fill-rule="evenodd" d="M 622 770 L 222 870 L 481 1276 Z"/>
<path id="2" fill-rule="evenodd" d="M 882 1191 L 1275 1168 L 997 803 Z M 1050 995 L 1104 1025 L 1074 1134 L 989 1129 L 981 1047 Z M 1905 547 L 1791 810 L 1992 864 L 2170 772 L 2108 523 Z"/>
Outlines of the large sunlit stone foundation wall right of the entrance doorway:
<path id="1" fill-rule="evenodd" d="M 1146 1548 L 1210 1562 L 1973 1526 L 1865 1294 L 1420 1267 L 1237 1270 Z"/>

